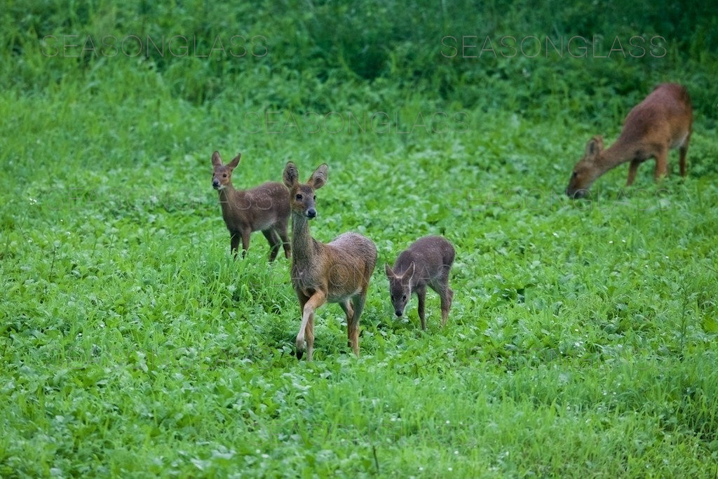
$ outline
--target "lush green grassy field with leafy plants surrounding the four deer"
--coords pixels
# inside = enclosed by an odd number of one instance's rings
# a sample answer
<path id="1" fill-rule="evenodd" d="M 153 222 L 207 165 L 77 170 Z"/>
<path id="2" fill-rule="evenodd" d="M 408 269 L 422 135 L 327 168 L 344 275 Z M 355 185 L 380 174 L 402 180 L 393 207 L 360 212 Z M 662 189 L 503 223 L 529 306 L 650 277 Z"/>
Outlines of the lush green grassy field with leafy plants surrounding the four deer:
<path id="1" fill-rule="evenodd" d="M 0 14 L 0 476 L 717 477 L 714 7 L 274 4 Z M 442 44 L 592 34 L 587 57 Z M 664 42 L 601 56 L 633 34 Z M 624 166 L 568 200 L 587 139 L 668 80 L 688 176 L 671 152 L 658 184 Z M 294 357 L 289 261 L 259 233 L 230 256 L 215 149 L 236 187 L 330 165 L 314 238 L 379 254 L 360 358 L 336 304 Z M 426 234 L 457 259 L 422 331 L 383 263 Z"/>

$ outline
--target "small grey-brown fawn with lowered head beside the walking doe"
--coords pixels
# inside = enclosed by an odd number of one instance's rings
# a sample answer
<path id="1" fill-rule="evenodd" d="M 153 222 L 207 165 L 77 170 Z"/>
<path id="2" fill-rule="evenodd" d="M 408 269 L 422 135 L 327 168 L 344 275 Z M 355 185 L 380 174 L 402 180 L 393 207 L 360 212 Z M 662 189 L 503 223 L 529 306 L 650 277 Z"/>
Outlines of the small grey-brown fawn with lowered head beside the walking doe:
<path id="1" fill-rule="evenodd" d="M 454 247 L 441 236 L 424 236 L 399 254 L 393 269 L 384 264 L 389 279 L 391 304 L 397 316 L 404 314 L 411 293 L 419 297 L 421 329 L 426 329 L 424 300 L 426 287 L 442 300 L 442 326 L 446 324 L 454 292 L 449 288 L 449 269 L 454 263 Z"/>

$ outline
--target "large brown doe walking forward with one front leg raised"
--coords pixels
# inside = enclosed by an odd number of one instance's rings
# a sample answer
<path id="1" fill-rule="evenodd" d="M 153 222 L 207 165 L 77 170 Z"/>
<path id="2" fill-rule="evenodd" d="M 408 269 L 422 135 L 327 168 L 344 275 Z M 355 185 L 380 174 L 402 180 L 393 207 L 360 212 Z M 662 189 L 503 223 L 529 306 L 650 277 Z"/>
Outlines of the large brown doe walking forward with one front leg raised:
<path id="1" fill-rule="evenodd" d="M 327 164 L 322 164 L 302 184 L 294 163 L 284 168 L 292 208 L 292 286 L 302 310 L 297 358 L 302 358 L 306 340 L 307 361 L 312 361 L 314 350 L 314 311 L 325 302 L 339 303 L 344 310 L 349 343 L 359 355 L 359 316 L 376 265 L 376 246 L 360 234 L 344 233 L 324 244 L 309 233 L 309 220 L 317 216 L 314 191 L 326 184 L 327 169 Z"/>

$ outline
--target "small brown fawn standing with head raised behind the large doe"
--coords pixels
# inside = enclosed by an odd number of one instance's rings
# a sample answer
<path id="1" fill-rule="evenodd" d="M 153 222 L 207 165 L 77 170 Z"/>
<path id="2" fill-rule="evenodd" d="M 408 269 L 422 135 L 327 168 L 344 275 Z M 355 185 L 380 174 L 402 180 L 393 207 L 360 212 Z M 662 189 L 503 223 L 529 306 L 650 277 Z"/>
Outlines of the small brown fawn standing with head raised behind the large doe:
<path id="1" fill-rule="evenodd" d="M 239 240 L 242 240 L 242 256 L 249 248 L 249 236 L 261 231 L 269 241 L 269 261 L 274 261 L 279 246 L 284 245 L 284 255 L 289 258 L 291 250 L 286 235 L 289 223 L 289 200 L 286 187 L 278 182 L 267 182 L 251 190 L 235 190 L 232 186 L 232 171 L 239 164 L 238 154 L 228 164 L 222 164 L 219 152 L 212 154 L 212 186 L 218 190 L 222 218 L 230 234 L 232 254 L 237 255 Z"/>

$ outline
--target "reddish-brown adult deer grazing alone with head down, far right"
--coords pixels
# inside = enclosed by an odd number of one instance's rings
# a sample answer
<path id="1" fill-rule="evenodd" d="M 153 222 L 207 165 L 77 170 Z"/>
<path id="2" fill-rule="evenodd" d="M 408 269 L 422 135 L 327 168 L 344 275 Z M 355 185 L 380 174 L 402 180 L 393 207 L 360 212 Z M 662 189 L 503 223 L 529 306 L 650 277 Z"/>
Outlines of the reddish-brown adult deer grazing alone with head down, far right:
<path id="1" fill-rule="evenodd" d="M 681 176 L 686 175 L 686 152 L 691 139 L 693 109 L 688 91 L 675 83 L 658 85 L 626 116 L 623 130 L 611 147 L 603 149 L 601 136 L 586 144 L 576 164 L 566 194 L 583 197 L 592 183 L 609 169 L 630 162 L 626 186 L 635 180 L 638 165 L 656 159 L 656 180 L 668 173 L 668 150 L 679 149 Z"/>

